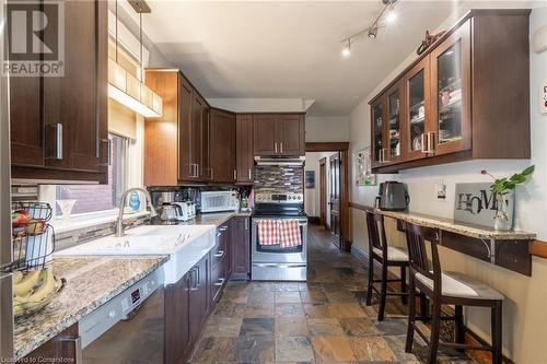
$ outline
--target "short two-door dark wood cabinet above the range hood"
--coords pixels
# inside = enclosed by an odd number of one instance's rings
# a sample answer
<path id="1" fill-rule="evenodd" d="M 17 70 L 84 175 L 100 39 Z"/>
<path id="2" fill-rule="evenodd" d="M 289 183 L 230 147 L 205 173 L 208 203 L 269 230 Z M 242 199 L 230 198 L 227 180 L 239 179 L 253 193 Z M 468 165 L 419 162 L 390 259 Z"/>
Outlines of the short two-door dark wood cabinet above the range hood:
<path id="1" fill-rule="evenodd" d="M 255 114 L 253 136 L 255 155 L 304 155 L 303 114 Z"/>

